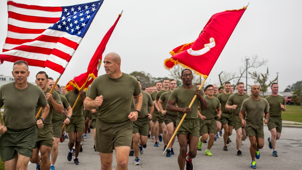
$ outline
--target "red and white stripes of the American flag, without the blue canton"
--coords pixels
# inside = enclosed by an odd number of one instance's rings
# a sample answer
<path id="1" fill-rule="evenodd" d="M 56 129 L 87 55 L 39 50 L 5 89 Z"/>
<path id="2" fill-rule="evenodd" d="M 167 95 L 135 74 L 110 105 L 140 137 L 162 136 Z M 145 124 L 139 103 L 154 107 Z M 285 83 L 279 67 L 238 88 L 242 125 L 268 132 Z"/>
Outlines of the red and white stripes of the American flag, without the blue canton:
<path id="1" fill-rule="evenodd" d="M 60 20 L 62 7 L 8 3 L 8 32 L 0 58 L 25 60 L 63 74 L 82 38 L 47 29 Z M 55 25 L 54 25 L 55 26 Z"/>

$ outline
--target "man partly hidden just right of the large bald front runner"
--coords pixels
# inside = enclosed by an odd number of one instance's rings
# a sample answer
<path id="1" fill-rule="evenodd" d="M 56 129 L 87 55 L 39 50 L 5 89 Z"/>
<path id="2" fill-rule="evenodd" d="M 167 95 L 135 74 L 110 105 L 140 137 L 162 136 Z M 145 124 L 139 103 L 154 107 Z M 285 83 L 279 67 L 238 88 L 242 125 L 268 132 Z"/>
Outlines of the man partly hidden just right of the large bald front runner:
<path id="1" fill-rule="evenodd" d="M 142 87 L 140 80 L 138 80 L 140 88 Z M 140 165 L 140 160 L 138 157 L 138 152 L 140 154 L 144 153 L 143 146 L 146 145 L 148 139 L 148 131 L 149 131 L 149 120 L 152 119 L 152 112 L 154 110 L 154 105 L 151 96 L 146 91 L 142 91 L 143 95 L 143 104 L 142 109 L 140 111 L 140 116 L 137 118 L 136 121 L 133 122 L 133 152 L 135 156 L 134 165 Z M 148 113 L 148 107 L 149 113 Z"/>

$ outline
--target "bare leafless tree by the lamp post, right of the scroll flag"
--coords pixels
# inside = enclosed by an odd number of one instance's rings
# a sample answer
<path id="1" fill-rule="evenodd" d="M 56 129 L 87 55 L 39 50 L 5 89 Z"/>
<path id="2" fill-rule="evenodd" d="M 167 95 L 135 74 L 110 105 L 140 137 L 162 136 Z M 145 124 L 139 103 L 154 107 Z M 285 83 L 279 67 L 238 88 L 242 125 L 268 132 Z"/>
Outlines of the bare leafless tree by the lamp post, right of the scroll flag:
<path id="1" fill-rule="evenodd" d="M 247 67 L 246 67 L 246 59 L 248 59 Z M 248 56 L 246 56 L 241 61 L 242 61 L 243 65 L 240 66 L 239 73 L 238 72 L 224 72 L 224 71 L 220 72 L 218 77 L 219 77 L 221 86 L 223 86 L 225 82 L 230 82 L 231 80 L 236 80 L 237 83 L 240 82 L 240 79 L 246 78 L 246 76 L 244 76 L 244 74 L 246 73 L 246 69 L 258 68 L 260 66 L 266 65 L 266 63 L 268 62 L 267 59 L 259 59 L 257 55 L 252 56 L 252 58 L 249 58 Z"/>

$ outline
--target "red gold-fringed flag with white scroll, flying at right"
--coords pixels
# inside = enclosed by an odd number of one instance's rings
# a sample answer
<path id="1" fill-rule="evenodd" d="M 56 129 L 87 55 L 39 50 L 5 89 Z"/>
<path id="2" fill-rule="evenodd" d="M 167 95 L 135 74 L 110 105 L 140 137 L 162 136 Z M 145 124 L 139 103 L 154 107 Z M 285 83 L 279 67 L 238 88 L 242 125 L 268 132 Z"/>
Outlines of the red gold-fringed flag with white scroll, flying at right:
<path id="1" fill-rule="evenodd" d="M 207 78 L 245 10 L 243 7 L 214 14 L 194 43 L 184 44 L 170 52 L 172 57 L 165 59 L 165 68 L 181 64 Z"/>

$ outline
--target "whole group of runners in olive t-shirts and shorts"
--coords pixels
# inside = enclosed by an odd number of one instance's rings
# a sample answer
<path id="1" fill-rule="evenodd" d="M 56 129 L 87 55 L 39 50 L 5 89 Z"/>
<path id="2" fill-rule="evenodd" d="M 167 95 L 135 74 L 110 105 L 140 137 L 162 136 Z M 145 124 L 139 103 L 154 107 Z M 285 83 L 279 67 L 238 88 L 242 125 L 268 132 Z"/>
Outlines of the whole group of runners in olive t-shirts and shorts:
<path id="1" fill-rule="evenodd" d="M 89 125 L 95 151 L 100 153 L 101 169 L 112 169 L 114 149 L 117 169 L 127 169 L 129 156 L 135 156 L 134 165 L 140 165 L 139 153 L 144 153 L 148 137 L 154 147 L 162 142 L 164 150 L 173 137 L 166 152 L 166 157 L 171 157 L 175 154 L 173 133 L 185 114 L 176 133 L 181 170 L 193 169 L 192 159 L 208 138 L 205 155 L 213 155 L 210 149 L 218 135 L 224 140 L 221 149 L 228 151 L 233 129 L 237 156 L 242 156 L 241 142 L 249 138 L 250 167 L 256 168 L 255 159 L 259 159 L 259 149 L 264 145 L 263 122 L 271 132 L 268 142 L 272 156 L 278 156 L 276 140 L 281 136 L 281 111 L 286 106 L 284 97 L 278 95 L 277 83 L 271 85 L 272 93 L 266 98 L 260 97 L 258 85 L 252 85 L 251 96 L 247 95 L 242 82 L 236 85 L 236 93 L 230 82 L 224 83 L 223 91 L 215 84 L 203 91 L 200 84 L 192 84 L 192 71 L 184 69 L 181 86 L 175 79 L 165 78 L 141 90 L 140 80 L 121 72 L 120 64 L 117 53 L 108 53 L 104 57 L 106 74 L 98 76 L 88 91 L 73 88 L 67 92 L 63 86 L 50 94 L 55 82 L 46 72 L 36 74 L 35 86 L 27 82 L 27 63 L 15 62 L 15 81 L 0 87 L 0 106 L 5 107 L 4 125 L 0 124 L 0 156 L 5 167 L 26 169 L 30 161 L 37 164 L 37 169 L 55 169 L 63 124 L 69 151 L 60 152 L 66 152 L 68 161 L 73 157 L 74 165 L 80 164 L 81 142 Z M 35 119 L 40 108 L 42 113 Z"/>

